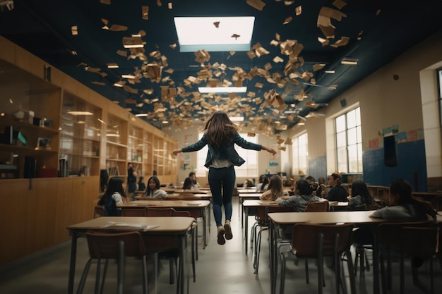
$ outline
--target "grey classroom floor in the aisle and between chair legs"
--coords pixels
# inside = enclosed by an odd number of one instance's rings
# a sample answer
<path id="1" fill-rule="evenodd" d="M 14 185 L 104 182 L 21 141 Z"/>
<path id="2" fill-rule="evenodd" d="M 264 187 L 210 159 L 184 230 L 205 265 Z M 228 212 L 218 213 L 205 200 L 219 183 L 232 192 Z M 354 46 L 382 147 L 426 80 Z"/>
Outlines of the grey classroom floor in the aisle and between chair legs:
<path id="1" fill-rule="evenodd" d="M 209 234 L 208 246 L 203 249 L 202 238 L 199 242 L 199 258 L 196 262 L 196 283 L 190 281 L 189 293 L 192 294 L 225 294 L 225 293 L 253 293 L 270 294 L 270 276 L 268 267 L 268 231 L 263 233 L 261 245 L 261 258 L 258 274 L 253 274 L 252 255 L 244 254 L 244 233 L 241 228 L 241 219 L 238 214 L 238 199 L 234 197 L 234 217 L 232 218 L 232 231 L 234 238 L 227 240 L 225 245 L 218 245 L 216 240 L 215 221 L 212 219 L 211 233 Z M 210 214 L 211 217 L 212 214 Z M 250 216 L 249 224 L 253 224 L 253 216 Z M 202 227 L 202 226 L 201 226 Z M 250 230 L 250 228 L 249 228 Z M 201 235 L 200 231 L 200 235 Z M 2 241 L 4 242 L 4 241 Z M 65 294 L 68 285 L 68 268 L 71 243 L 49 248 L 43 252 L 26 257 L 12 264 L 0 266 L 0 293 L 21 294 L 21 293 L 51 293 Z M 85 262 L 88 259 L 88 246 L 84 238 L 78 240 L 78 255 L 76 267 L 76 283 L 74 291 Z M 140 260 L 127 259 L 126 280 L 124 293 L 142 293 L 141 286 L 141 263 Z M 157 293 L 169 294 L 176 290 L 175 285 L 169 285 L 169 262 L 162 260 L 160 274 L 158 276 Z M 346 267 L 346 264 L 344 264 Z M 189 267 L 189 270 L 191 267 Z M 407 276 L 405 277 L 405 293 L 424 293 L 412 284 L 410 264 L 405 264 Z M 440 293 L 442 288 L 441 264 L 434 262 L 435 288 Z M 189 272 L 191 274 L 191 271 Z M 309 264 L 310 283 L 306 284 L 304 274 L 304 262 L 300 261 L 295 266 L 294 262 L 287 262 L 285 280 L 285 293 L 317 293 L 317 271 L 314 261 Z M 93 293 L 95 266 L 92 264 L 88 282 L 83 293 Z M 107 280 L 104 286 L 104 293 L 116 293 L 117 278 L 116 264 L 109 263 Z M 150 277 L 153 275 L 150 273 Z M 278 273 L 279 276 L 279 273 Z M 348 280 L 348 275 L 346 271 Z M 399 293 L 399 265 L 393 262 L 393 290 L 390 293 Z M 356 278 L 357 293 L 373 293 L 372 271 L 366 271 L 364 278 Z M 419 268 L 419 281 L 429 285 L 429 263 Z M 325 267 L 325 288 L 323 293 L 335 293 L 333 272 Z M 350 289 L 349 289 L 350 291 Z M 75 293 L 75 292 L 74 292 Z M 277 286 L 279 293 L 279 281 Z M 350 293 L 350 292 L 349 292 Z"/>

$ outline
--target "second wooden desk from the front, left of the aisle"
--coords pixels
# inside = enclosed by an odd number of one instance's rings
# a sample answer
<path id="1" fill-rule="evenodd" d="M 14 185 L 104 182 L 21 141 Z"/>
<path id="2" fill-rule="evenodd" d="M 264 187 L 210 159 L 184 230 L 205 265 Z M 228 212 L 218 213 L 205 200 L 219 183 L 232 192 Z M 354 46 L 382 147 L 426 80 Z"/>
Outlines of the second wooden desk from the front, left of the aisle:
<path id="1" fill-rule="evenodd" d="M 190 212 L 195 219 L 203 219 L 203 248 L 207 246 L 207 212 L 210 201 L 208 200 L 136 200 L 120 204 L 121 209 L 133 209 L 140 207 L 172 207 L 176 210 Z M 196 227 L 198 235 L 198 226 Z M 197 250 L 198 252 L 198 250 Z"/>

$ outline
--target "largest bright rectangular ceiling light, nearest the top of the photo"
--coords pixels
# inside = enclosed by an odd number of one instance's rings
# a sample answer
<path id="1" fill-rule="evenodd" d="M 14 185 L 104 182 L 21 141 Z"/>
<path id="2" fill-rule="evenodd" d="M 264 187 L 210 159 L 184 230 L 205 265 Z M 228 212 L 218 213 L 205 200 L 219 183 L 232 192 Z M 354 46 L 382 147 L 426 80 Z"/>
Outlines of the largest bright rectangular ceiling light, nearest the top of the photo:
<path id="1" fill-rule="evenodd" d="M 255 17 L 176 17 L 174 22 L 181 52 L 249 51 Z"/>

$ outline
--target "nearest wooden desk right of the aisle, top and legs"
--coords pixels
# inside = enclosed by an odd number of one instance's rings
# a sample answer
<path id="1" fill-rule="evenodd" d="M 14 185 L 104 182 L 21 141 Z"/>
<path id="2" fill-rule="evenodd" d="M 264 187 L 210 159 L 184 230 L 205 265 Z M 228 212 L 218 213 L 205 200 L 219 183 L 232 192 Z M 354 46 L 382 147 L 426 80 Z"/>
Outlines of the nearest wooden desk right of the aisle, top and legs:
<path id="1" fill-rule="evenodd" d="M 277 227 L 294 226 L 295 223 L 354 223 L 359 225 L 376 226 L 378 223 L 388 221 L 387 219 L 374 219 L 370 215 L 372 211 L 358 211 L 358 212 L 283 212 L 268 214 L 270 219 L 270 293 L 275 294 L 276 291 L 276 273 L 277 273 L 277 244 L 276 231 Z M 374 264 L 377 264 L 376 253 L 373 254 Z M 377 294 L 379 290 L 378 267 L 373 267 L 374 274 L 374 293 Z"/>

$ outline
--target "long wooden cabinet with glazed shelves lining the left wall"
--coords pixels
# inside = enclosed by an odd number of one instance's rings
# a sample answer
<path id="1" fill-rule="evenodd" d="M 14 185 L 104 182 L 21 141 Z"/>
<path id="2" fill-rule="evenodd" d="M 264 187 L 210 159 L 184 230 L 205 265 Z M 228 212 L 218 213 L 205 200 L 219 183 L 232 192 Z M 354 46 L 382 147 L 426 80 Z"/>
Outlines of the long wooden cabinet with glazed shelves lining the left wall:
<path id="1" fill-rule="evenodd" d="M 103 170 L 126 178 L 133 162 L 145 177 L 156 171 L 176 183 L 173 137 L 56 68 L 45 80 L 50 65 L 1 36 L 0 48 L 0 191 L 8 202 L 0 263 L 64 242 L 66 226 L 92 219 Z"/>

